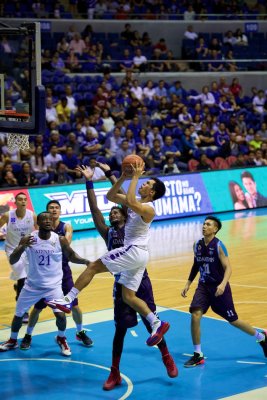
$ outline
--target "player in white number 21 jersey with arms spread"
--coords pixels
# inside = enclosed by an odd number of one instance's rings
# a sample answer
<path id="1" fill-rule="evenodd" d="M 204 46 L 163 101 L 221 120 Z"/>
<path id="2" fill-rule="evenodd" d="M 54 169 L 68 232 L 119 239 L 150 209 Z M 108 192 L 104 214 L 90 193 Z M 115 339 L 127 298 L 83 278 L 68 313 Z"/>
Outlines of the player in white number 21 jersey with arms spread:
<path id="1" fill-rule="evenodd" d="M 10 255 L 11 264 L 18 262 L 24 252 L 29 260 L 28 274 L 17 301 L 15 315 L 11 325 L 10 339 L 0 345 L 0 352 L 18 347 L 17 337 L 26 310 L 40 299 L 63 296 L 62 292 L 62 253 L 71 262 L 89 264 L 69 246 L 65 237 L 52 232 L 53 219 L 49 212 L 38 214 L 39 231 L 21 238 L 19 245 Z M 66 316 L 58 309 L 54 310 L 58 335 L 56 342 L 64 356 L 70 356 L 71 350 L 65 337 Z"/>

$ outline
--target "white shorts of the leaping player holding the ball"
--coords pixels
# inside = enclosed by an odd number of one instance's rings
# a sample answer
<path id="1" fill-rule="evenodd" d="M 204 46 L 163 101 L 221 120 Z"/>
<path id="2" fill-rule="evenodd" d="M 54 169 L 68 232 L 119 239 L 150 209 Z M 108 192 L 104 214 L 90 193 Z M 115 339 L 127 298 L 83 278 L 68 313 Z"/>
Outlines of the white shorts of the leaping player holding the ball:
<path id="1" fill-rule="evenodd" d="M 101 257 L 101 261 L 116 275 L 116 282 L 137 292 L 148 258 L 147 249 L 130 245 L 109 251 Z"/>

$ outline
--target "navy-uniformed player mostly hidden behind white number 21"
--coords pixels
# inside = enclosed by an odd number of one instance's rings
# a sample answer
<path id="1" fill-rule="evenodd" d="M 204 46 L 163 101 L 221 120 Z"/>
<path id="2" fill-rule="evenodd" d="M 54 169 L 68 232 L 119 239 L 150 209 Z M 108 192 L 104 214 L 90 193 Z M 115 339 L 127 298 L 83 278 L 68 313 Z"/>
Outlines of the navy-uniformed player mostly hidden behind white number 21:
<path id="1" fill-rule="evenodd" d="M 61 206 L 57 200 L 51 200 L 46 205 L 46 210 L 52 214 L 53 218 L 53 232 L 57 233 L 59 236 L 64 236 L 68 243 L 71 243 L 73 229 L 68 223 L 60 221 Z M 64 294 L 68 293 L 73 287 L 72 272 L 67 258 L 63 255 L 62 258 L 62 269 L 63 269 L 63 279 L 62 279 L 62 291 Z M 32 332 L 38 321 L 40 312 L 46 308 L 44 300 L 40 300 L 35 304 L 29 318 L 29 323 L 27 326 L 26 334 L 20 344 L 22 350 L 28 350 L 31 345 Z M 85 329 L 83 329 L 82 324 L 82 312 L 78 306 L 78 299 L 73 301 L 72 317 L 76 324 L 76 339 L 81 341 L 85 346 L 91 347 L 93 341 L 86 334 Z"/>

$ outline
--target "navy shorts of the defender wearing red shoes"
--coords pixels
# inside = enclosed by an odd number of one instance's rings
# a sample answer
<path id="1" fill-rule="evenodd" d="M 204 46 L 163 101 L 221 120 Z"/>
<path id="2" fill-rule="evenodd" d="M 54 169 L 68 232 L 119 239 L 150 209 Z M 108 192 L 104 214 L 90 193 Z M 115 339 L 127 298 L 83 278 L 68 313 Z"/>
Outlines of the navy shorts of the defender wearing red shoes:
<path id="1" fill-rule="evenodd" d="M 114 283 L 114 321 L 116 326 L 123 328 L 132 328 L 138 324 L 137 313 L 128 304 L 122 300 L 122 287 L 118 282 Z M 146 275 L 142 278 L 141 284 L 136 296 L 144 300 L 152 312 L 156 312 L 156 305 L 153 296 L 152 285 L 149 277 Z M 142 317 L 145 325 L 149 325 L 147 320 Z"/>

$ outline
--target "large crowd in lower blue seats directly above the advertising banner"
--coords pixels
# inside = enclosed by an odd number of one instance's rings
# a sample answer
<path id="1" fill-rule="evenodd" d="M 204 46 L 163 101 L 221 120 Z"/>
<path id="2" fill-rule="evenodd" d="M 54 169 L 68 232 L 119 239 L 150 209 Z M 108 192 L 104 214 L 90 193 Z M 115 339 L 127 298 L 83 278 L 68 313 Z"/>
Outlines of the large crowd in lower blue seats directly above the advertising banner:
<path id="1" fill-rule="evenodd" d="M 108 71 L 93 78 L 44 70 L 43 77 L 46 133 L 13 152 L 0 136 L 1 187 L 79 182 L 76 166 L 96 161 L 119 174 L 132 153 L 147 174 L 267 165 L 266 93 L 252 88 L 245 96 L 237 78 L 198 93 L 180 81 L 141 84 L 131 71 L 120 84 Z M 23 98 L 25 82 L 10 82 L 9 108 Z M 94 179 L 103 178 L 96 169 Z"/>

